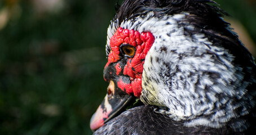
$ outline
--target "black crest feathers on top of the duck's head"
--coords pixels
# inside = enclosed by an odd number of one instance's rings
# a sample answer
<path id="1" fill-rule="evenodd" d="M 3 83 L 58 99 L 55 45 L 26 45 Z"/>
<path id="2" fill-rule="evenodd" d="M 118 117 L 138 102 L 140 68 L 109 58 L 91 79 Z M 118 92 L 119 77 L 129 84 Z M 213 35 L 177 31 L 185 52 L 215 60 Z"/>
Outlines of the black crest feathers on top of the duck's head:
<path id="1" fill-rule="evenodd" d="M 155 12 L 157 15 L 168 14 L 173 15 L 180 12 L 189 12 L 196 16 L 209 16 L 206 19 L 215 20 L 226 12 L 219 7 L 210 5 L 208 3 L 216 4 L 210 0 L 135 0 L 123 1 L 114 19 L 118 19 L 121 23 L 123 20 L 131 17 L 141 16 L 149 11 Z"/>

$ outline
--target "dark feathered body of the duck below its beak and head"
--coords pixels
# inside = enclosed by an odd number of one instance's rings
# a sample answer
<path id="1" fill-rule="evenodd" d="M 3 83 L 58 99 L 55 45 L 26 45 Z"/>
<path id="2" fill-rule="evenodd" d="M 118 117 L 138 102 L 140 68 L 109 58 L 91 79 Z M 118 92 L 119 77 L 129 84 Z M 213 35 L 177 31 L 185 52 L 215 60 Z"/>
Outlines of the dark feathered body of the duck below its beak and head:
<path id="1" fill-rule="evenodd" d="M 94 134 L 243 134 L 229 127 L 184 127 L 183 121 L 175 121 L 167 115 L 156 113 L 157 106 L 139 106 L 127 110 L 112 119 Z"/>

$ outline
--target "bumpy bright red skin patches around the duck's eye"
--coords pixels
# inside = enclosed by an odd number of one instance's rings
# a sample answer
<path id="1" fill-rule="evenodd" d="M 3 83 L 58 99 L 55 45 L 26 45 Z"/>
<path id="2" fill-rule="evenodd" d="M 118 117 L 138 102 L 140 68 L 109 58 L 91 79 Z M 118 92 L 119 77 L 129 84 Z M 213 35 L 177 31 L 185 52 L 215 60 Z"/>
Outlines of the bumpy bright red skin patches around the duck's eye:
<path id="1" fill-rule="evenodd" d="M 142 32 L 135 30 L 128 30 L 123 28 L 118 28 L 116 33 L 111 37 L 110 47 L 111 51 L 108 56 L 108 62 L 105 68 L 111 63 L 117 62 L 114 66 L 116 69 L 116 75 L 127 75 L 131 83 L 123 82 L 122 78 L 117 81 L 117 87 L 125 91 L 129 95 L 131 93 L 136 97 L 140 97 L 142 92 L 142 72 L 145 56 L 147 55 L 149 49 L 154 43 L 155 37 L 150 32 Z M 122 59 L 120 46 L 122 44 L 129 44 L 135 48 L 135 54 L 133 57 L 127 57 L 126 64 L 118 63 Z"/>

